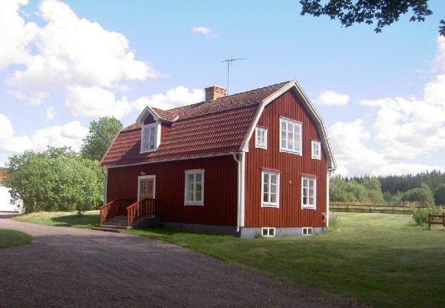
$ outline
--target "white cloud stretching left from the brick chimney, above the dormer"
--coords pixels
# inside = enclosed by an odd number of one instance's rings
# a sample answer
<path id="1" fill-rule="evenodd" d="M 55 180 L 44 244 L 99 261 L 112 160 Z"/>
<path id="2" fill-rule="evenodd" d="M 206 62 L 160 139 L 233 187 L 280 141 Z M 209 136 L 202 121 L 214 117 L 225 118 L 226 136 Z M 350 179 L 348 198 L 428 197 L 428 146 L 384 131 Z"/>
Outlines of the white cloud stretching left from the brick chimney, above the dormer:
<path id="1" fill-rule="evenodd" d="M 160 109 L 170 109 L 202 101 L 204 92 L 184 86 L 171 88 L 165 93 L 153 94 L 127 101 L 126 97 L 116 100 L 114 93 L 103 88 L 68 87 L 65 107 L 74 116 L 115 116 L 122 118 L 132 110 L 143 110 L 147 105 Z"/>

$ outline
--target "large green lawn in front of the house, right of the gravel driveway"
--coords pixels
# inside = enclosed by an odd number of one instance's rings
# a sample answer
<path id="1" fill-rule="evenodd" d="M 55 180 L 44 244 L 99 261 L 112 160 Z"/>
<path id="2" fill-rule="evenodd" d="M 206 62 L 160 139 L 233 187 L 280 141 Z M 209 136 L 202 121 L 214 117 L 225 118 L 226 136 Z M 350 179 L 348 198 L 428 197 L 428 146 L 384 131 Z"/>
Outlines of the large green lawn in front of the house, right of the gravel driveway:
<path id="1" fill-rule="evenodd" d="M 164 240 L 372 307 L 445 307 L 445 232 L 409 215 L 340 213 L 340 227 L 306 237 L 242 240 L 164 228 Z"/>

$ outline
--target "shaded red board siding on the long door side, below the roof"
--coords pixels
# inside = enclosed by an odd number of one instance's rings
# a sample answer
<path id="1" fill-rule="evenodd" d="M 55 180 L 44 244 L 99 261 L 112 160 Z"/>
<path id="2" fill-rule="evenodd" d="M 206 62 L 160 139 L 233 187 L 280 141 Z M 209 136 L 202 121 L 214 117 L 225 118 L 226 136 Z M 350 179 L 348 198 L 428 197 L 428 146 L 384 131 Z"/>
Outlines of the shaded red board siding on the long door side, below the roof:
<path id="1" fill-rule="evenodd" d="M 107 200 L 138 198 L 138 176 L 156 175 L 155 198 L 167 222 L 236 226 L 237 164 L 231 155 L 108 169 Z M 185 170 L 205 169 L 204 206 L 184 206 Z"/>

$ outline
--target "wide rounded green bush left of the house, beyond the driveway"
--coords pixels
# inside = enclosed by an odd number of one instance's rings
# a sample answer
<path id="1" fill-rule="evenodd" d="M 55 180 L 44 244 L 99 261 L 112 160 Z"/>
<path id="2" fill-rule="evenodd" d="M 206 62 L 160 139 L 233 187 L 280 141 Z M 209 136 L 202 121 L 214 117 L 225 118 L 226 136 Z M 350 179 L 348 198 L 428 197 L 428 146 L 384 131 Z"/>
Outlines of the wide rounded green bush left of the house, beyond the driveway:
<path id="1" fill-rule="evenodd" d="M 97 161 L 82 159 L 71 149 L 26 151 L 8 161 L 5 185 L 23 211 L 74 211 L 79 215 L 102 201 L 103 175 Z"/>

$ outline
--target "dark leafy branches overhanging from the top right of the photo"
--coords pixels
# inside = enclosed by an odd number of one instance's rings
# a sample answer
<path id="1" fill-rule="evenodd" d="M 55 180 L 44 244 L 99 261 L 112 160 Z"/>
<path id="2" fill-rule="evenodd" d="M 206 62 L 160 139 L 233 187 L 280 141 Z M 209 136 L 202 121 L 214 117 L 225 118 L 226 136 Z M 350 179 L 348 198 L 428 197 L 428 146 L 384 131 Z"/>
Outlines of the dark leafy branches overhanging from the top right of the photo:
<path id="1" fill-rule="evenodd" d="M 329 0 L 325 5 L 321 0 L 300 0 L 303 8 L 301 15 L 312 16 L 327 15 L 331 19 L 338 18 L 345 27 L 351 27 L 354 23 L 366 23 L 368 25 L 377 22 L 374 31 L 391 25 L 401 14 L 412 11 L 409 21 L 424 21 L 425 17 L 433 14 L 428 8 L 428 0 Z M 439 34 L 445 36 L 445 21 L 442 19 L 439 25 Z"/>

